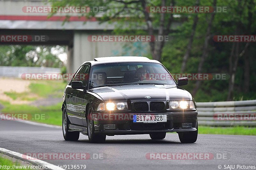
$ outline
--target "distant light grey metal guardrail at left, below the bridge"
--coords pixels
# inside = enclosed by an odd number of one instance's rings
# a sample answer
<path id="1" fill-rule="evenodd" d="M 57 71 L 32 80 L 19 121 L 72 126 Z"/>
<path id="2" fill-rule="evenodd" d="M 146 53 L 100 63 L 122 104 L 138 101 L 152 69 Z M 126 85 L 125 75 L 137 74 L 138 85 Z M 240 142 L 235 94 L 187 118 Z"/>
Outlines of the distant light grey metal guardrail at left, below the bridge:
<path id="1" fill-rule="evenodd" d="M 60 73 L 60 68 L 51 67 L 11 67 L 11 66 L 0 66 L 1 77 L 16 77 L 20 78 L 25 73 Z"/>

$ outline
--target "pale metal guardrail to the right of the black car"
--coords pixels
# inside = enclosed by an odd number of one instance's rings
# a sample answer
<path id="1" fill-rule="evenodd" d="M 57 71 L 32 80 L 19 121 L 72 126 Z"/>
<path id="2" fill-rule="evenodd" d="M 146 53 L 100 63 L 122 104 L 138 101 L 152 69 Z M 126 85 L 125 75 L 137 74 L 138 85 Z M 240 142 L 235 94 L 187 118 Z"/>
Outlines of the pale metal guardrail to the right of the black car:
<path id="1" fill-rule="evenodd" d="M 199 125 L 256 126 L 256 100 L 230 102 L 201 102 L 196 103 L 196 105 L 198 111 Z M 241 115 L 245 117 L 241 119 Z M 250 119 L 246 118 L 246 116 L 248 115 L 254 115 L 254 119 L 253 117 L 251 117 Z"/>

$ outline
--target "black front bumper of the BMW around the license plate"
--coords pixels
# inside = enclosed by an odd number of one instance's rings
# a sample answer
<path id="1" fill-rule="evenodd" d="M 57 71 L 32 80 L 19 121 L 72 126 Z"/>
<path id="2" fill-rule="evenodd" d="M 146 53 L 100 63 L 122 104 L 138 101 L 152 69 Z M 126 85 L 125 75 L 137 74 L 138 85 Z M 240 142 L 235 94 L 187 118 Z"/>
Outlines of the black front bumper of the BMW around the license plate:
<path id="1" fill-rule="evenodd" d="M 99 113 L 100 114 L 100 113 Z M 104 115 L 103 119 L 97 118 L 94 114 L 95 133 L 106 135 L 127 135 L 127 134 L 151 134 L 155 132 L 181 132 L 197 130 L 197 111 L 171 112 L 171 113 L 150 113 L 151 115 L 167 115 L 167 122 L 158 123 L 133 123 L 133 115 L 147 115 L 149 113 L 122 113 L 122 116 L 115 118 Z M 102 114 L 102 113 L 101 113 Z M 108 115 L 108 113 L 107 113 Z M 128 118 L 129 117 L 129 118 Z M 182 123 L 192 123 L 190 128 L 182 128 Z M 104 129 L 104 124 L 115 124 L 115 129 Z"/>

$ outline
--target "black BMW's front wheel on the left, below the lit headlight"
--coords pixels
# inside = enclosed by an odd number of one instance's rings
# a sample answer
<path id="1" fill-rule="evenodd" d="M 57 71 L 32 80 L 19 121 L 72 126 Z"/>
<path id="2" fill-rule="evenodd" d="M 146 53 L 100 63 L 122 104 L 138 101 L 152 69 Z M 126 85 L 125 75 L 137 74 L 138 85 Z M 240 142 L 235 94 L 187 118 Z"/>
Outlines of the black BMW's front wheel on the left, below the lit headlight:
<path id="1" fill-rule="evenodd" d="M 92 118 L 92 107 L 90 106 L 87 114 L 87 135 L 91 143 L 104 143 L 106 135 L 94 133 L 94 122 Z"/>

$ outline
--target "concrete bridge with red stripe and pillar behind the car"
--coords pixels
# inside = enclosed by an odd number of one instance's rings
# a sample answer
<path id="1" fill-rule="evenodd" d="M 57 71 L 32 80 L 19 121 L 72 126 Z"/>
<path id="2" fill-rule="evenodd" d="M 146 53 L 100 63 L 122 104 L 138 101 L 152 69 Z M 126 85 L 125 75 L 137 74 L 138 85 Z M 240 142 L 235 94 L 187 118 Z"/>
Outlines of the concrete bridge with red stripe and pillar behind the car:
<path id="1" fill-rule="evenodd" d="M 90 42 L 90 35 L 110 35 L 115 24 L 100 24 L 97 19 L 85 20 L 78 14 L 70 14 L 69 22 L 63 24 L 65 14 L 58 13 L 48 18 L 49 13 L 28 11 L 28 7 L 51 6 L 42 0 L 0 0 L 0 35 L 39 35 L 46 41 L 15 42 L 23 45 L 66 45 L 68 46 L 68 72 L 76 69 L 87 60 L 104 56 L 146 56 L 149 53 L 147 42 Z M 39 9 L 39 8 L 37 8 Z M 86 21 L 86 22 L 85 22 Z M 175 27 L 175 24 L 174 26 Z M 14 44 L 1 42 L 0 44 Z"/>

